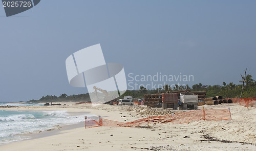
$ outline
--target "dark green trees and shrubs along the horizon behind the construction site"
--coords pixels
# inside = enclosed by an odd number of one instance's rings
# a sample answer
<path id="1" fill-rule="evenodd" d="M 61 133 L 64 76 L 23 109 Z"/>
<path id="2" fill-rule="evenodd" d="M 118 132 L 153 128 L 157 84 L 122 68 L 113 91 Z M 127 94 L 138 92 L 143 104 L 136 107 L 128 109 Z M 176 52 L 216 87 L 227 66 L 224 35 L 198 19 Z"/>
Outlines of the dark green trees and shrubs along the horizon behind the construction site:
<path id="1" fill-rule="evenodd" d="M 241 83 L 245 83 L 245 89 L 243 91 L 242 98 L 246 97 L 255 97 L 256 96 L 256 81 L 252 79 L 251 75 L 242 76 Z M 233 82 L 226 84 L 223 82 L 223 85 L 203 85 L 202 83 L 198 83 L 192 86 L 191 91 L 206 91 L 206 97 L 214 97 L 221 95 L 224 98 L 234 98 L 240 97 L 242 84 L 236 85 Z M 140 87 L 140 90 L 127 90 L 122 96 L 118 97 L 116 100 L 123 98 L 123 96 L 133 96 L 134 98 L 144 98 L 144 94 L 156 94 L 156 93 L 164 93 L 166 91 L 174 91 L 177 90 L 185 90 L 185 87 L 181 87 L 179 85 L 175 85 L 174 88 L 170 88 L 170 85 L 166 84 L 163 88 L 158 88 L 157 90 L 146 90 L 144 87 Z M 186 85 L 186 89 L 190 89 L 188 85 Z M 72 102 L 72 101 L 90 101 L 90 96 L 88 93 L 79 94 L 79 95 L 70 95 L 61 94 L 59 97 L 47 95 L 42 96 L 39 100 L 30 100 L 27 103 L 39 103 L 39 102 Z"/>

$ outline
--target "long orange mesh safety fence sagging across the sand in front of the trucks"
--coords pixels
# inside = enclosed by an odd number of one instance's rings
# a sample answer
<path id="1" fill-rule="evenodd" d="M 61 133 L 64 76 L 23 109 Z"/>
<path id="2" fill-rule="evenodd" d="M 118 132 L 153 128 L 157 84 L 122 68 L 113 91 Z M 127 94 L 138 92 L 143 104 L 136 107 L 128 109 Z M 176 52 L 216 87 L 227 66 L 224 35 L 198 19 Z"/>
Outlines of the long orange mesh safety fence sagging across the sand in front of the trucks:
<path id="1" fill-rule="evenodd" d="M 174 115 L 174 116 L 173 116 Z M 231 115 L 227 109 L 202 109 L 194 110 L 182 113 L 175 113 L 173 115 L 161 115 L 151 116 L 142 119 L 138 119 L 131 122 L 118 122 L 108 119 L 100 118 L 98 121 L 93 119 L 86 119 L 86 128 L 96 126 L 119 126 L 119 127 L 136 127 L 136 126 L 147 126 L 152 123 L 173 123 L 182 124 L 191 121 L 218 121 L 218 120 L 230 120 Z"/>

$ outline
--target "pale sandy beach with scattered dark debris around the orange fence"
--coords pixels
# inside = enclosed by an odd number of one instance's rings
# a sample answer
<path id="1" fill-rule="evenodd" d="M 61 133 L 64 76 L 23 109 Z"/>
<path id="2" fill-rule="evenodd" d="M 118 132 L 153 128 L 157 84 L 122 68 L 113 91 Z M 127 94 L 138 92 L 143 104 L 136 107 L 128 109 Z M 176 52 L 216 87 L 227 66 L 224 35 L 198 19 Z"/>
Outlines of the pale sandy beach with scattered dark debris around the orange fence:
<path id="1" fill-rule="evenodd" d="M 67 111 L 69 114 L 100 115 L 102 118 L 130 122 L 148 116 L 184 112 L 148 109 L 146 106 L 74 104 L 17 106 L 12 111 Z M 84 122 L 56 127 L 56 130 L 28 134 L 31 139 L 0 145 L 0 150 L 255 150 L 255 107 L 237 103 L 203 105 L 205 109 L 227 109 L 232 120 L 191 121 L 184 124 L 156 123 L 141 127 L 85 128 Z M 202 109 L 203 106 L 199 106 Z M 152 111 L 157 112 L 152 112 Z M 187 112 L 187 111 L 185 111 Z"/>

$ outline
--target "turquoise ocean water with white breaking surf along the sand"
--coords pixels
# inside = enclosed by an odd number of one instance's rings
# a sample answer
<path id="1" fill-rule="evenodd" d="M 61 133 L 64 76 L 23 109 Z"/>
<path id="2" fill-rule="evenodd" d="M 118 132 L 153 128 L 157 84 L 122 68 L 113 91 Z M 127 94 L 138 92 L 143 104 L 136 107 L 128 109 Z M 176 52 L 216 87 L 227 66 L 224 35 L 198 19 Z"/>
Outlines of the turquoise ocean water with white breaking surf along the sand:
<path id="1" fill-rule="evenodd" d="M 84 115 L 70 116 L 66 111 L 0 110 L 0 145 L 27 139 L 27 136 L 20 134 L 46 131 L 54 128 L 55 125 L 75 124 L 82 121 Z"/>

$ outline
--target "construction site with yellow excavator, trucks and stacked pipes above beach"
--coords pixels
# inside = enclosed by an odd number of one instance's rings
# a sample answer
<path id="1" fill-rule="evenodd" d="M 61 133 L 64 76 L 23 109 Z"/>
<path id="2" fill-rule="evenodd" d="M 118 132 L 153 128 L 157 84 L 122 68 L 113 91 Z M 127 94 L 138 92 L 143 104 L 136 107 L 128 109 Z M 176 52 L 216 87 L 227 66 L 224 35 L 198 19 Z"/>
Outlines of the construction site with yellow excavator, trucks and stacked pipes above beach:
<path id="1" fill-rule="evenodd" d="M 103 94 L 103 98 L 109 97 L 109 94 L 105 90 L 97 87 L 94 87 L 94 90 L 95 98 L 98 97 L 97 94 Z M 97 90 L 102 93 L 97 93 Z M 254 106 L 255 103 L 253 100 L 256 100 L 256 98 L 223 98 L 220 95 L 206 98 L 206 91 L 191 91 L 188 89 L 181 91 L 166 91 L 165 93 L 145 94 L 144 98 L 141 99 L 133 98 L 133 96 L 124 96 L 123 99 L 108 101 L 106 104 L 145 105 L 148 107 L 173 110 L 197 110 L 198 106 L 205 104 L 218 105 L 224 103 L 238 103 L 239 100 L 245 100 L 244 104 L 247 106 Z"/>

